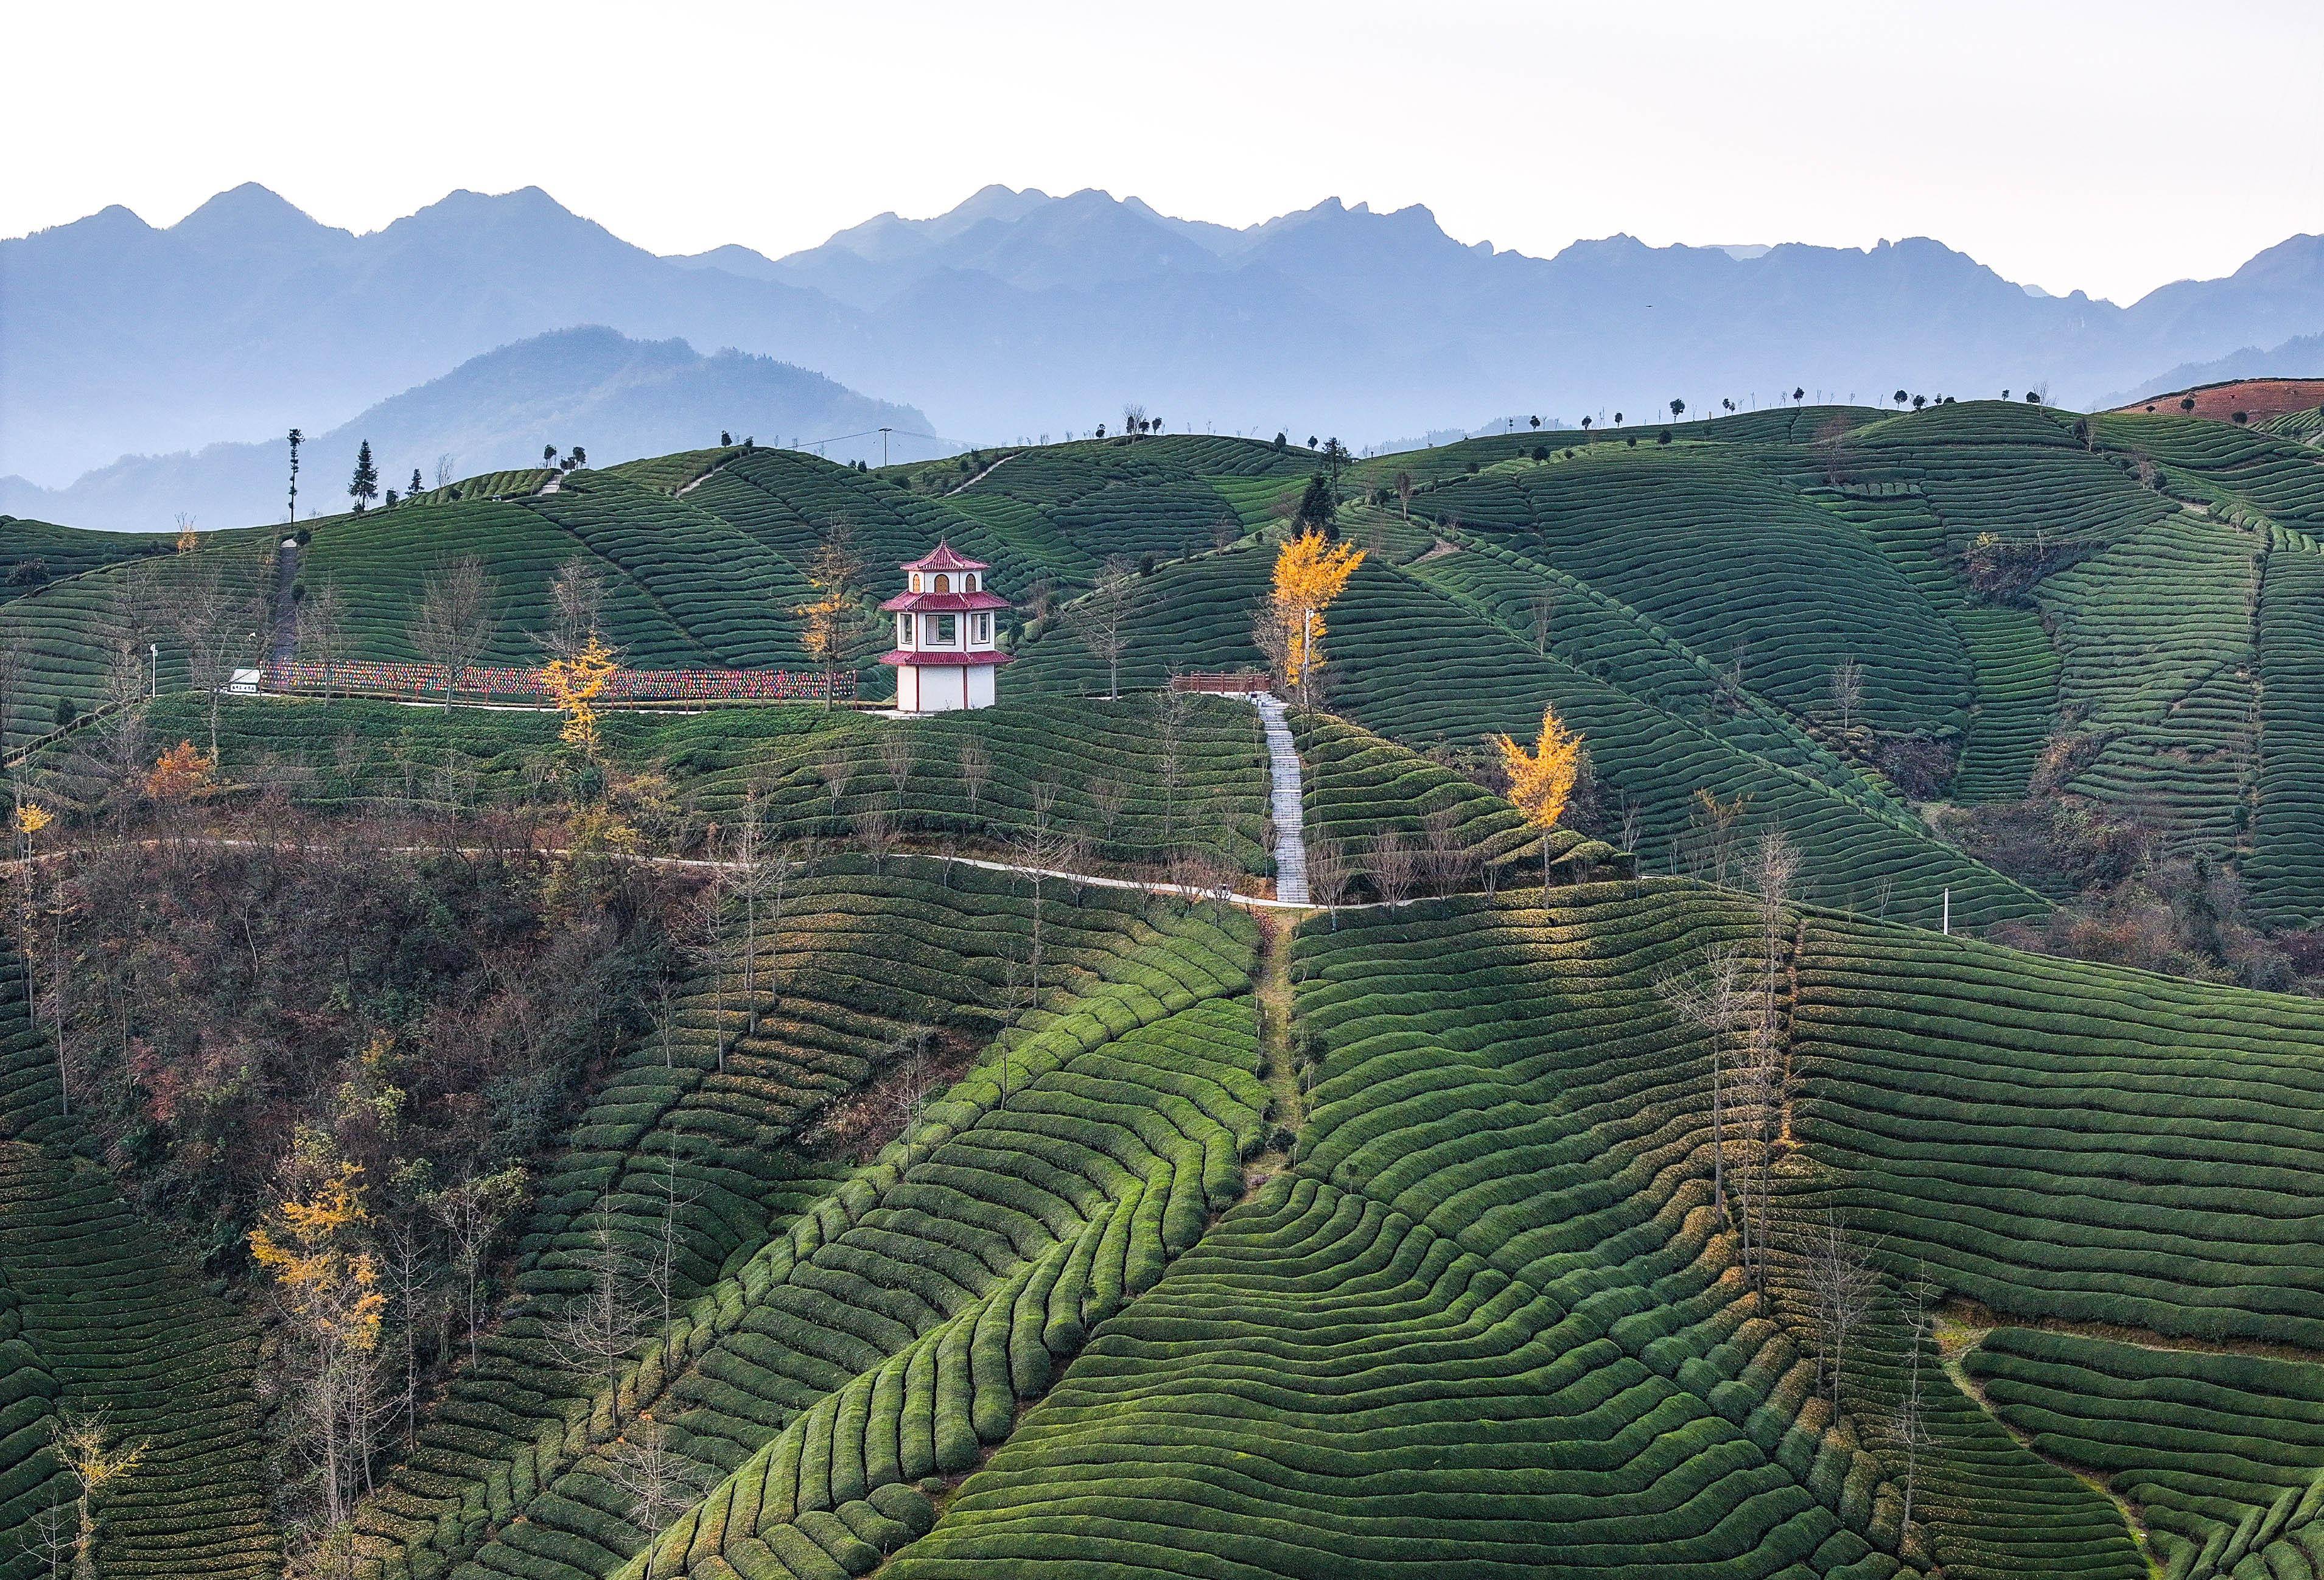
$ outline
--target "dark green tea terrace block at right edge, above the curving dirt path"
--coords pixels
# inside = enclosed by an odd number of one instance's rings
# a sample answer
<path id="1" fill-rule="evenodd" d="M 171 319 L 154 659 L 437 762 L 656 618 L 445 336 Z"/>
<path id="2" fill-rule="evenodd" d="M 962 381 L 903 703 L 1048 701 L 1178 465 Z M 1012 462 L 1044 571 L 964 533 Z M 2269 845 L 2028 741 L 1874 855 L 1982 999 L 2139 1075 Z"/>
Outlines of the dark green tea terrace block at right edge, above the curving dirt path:
<path id="1" fill-rule="evenodd" d="M 2324 1345 L 2324 1008 L 1813 918 L 1794 1132 L 1896 1266 L 2017 1317 Z"/>

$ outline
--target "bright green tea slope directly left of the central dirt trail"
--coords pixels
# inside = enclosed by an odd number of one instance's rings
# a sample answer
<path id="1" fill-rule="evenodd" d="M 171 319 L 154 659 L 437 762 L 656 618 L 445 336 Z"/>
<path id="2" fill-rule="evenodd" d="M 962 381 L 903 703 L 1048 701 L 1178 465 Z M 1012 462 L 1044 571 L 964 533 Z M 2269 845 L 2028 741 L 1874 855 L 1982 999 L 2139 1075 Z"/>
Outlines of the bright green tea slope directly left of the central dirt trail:
<path id="1" fill-rule="evenodd" d="M 1083 1336 L 1241 1197 L 1239 1157 L 1267 1106 L 1248 999 L 1211 999 L 1111 1041 L 1043 1032 L 1013 1057 L 1023 1085 L 1006 1104 L 988 1060 L 909 1143 L 925 1162 L 890 1148 L 885 1164 L 904 1166 L 885 1197 L 867 1194 L 855 1234 L 827 1241 L 862 1236 L 890 1262 L 948 1266 L 960 1283 L 906 1273 L 932 1324 L 913 1322 L 913 1343 L 758 1450 L 625 1578 L 860 1573 L 932 1524 L 909 1482 L 971 1468 Z M 962 1280 L 964 1236 L 988 1248 Z"/>

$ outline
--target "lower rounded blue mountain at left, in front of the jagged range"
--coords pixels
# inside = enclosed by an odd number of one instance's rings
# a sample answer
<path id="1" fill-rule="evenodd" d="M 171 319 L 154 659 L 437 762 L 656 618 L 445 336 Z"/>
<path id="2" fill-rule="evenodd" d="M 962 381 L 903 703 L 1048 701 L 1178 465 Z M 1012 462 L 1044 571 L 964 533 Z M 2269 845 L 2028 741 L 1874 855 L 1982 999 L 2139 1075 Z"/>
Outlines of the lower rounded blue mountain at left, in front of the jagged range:
<path id="1" fill-rule="evenodd" d="M 834 460 L 881 460 L 878 428 L 892 428 L 895 460 L 925 460 L 955 446 L 927 430 L 911 407 L 892 407 L 823 374 L 762 356 L 700 356 L 683 339 L 639 342 L 607 328 L 555 330 L 472 358 L 404 390 L 330 432 L 309 432 L 300 453 L 300 514 L 344 509 L 356 451 L 370 439 L 383 488 L 411 472 L 451 476 L 541 465 L 541 446 L 581 444 L 593 465 L 706 448 L 720 432 L 765 444 L 827 444 Z M 286 430 L 288 432 L 288 430 Z M 179 511 L 200 525 L 279 520 L 286 509 L 288 446 L 211 444 L 174 455 L 123 455 L 70 488 L 0 476 L 0 514 L 77 527 L 167 527 Z"/>

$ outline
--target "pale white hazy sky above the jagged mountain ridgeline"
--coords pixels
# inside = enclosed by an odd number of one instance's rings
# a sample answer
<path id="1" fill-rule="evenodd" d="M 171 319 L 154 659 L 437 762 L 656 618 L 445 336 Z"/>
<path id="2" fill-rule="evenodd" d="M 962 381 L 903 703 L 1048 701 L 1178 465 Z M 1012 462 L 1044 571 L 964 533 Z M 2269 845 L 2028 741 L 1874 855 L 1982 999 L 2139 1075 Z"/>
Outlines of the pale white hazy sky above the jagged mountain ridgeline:
<path id="1" fill-rule="evenodd" d="M 2131 300 L 2324 230 L 2315 0 L 19 5 L 0 235 L 263 181 L 372 230 L 544 186 L 786 253 L 988 181 L 1455 237 L 1934 235 Z"/>

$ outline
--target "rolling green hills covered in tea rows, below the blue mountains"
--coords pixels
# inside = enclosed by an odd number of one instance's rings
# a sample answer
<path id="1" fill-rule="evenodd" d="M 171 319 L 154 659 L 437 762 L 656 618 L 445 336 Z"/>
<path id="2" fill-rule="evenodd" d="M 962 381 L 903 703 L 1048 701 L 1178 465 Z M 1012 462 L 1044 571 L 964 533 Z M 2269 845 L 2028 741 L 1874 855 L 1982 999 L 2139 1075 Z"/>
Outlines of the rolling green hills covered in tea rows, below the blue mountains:
<path id="1" fill-rule="evenodd" d="M 1271 760 L 1169 681 L 1264 667 L 1325 465 L 695 451 L 316 520 L 290 586 L 272 530 L 0 523 L 49 572 L 0 599 L 0 723 L 58 813 L 0 955 L 0 1575 L 46 1573 L 91 1408 L 149 1445 L 102 1573 L 321 1561 L 281 1310 L 130 1206 L 165 1118 L 63 1104 L 65 1027 L 130 1087 L 156 1055 L 23 964 L 116 836 L 523 850 L 541 906 L 672 936 L 532 1115 L 346 1573 L 2324 1573 L 2324 453 L 1964 402 L 1357 460 L 1371 553 Z M 632 667 L 799 667 L 823 544 L 876 602 L 939 537 L 1018 599 L 990 711 L 614 709 L 581 753 L 539 709 L 230 697 L 216 783 L 144 785 L 211 727 L 172 599 L 244 597 L 256 655 L 337 588 L 349 655 L 409 660 L 474 555 L 532 665 L 581 562 Z M 1541 834 L 1497 737 L 1550 706 L 1587 771 Z M 1274 899 L 1292 832 L 1327 904 Z M 539 918 L 502 922 L 514 974 Z M 2122 964 L 2159 929 L 2185 974 Z M 442 1060 L 518 1034 L 314 992 Z M 404 1122 L 358 1087 L 318 1136 Z"/>

